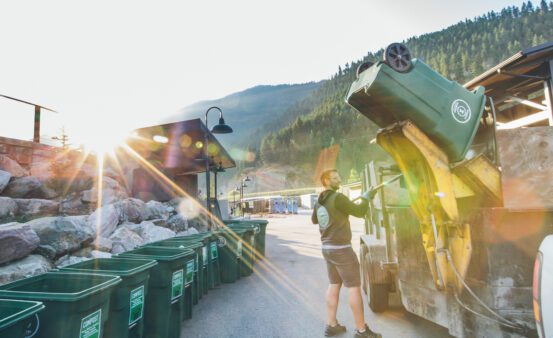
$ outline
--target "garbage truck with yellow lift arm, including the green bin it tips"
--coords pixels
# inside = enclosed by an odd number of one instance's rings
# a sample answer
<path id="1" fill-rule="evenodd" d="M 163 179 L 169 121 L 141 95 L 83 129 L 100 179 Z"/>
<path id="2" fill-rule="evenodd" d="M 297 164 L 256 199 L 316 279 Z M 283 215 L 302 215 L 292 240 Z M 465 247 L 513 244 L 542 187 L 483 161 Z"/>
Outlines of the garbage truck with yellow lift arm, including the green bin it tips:
<path id="1" fill-rule="evenodd" d="M 553 335 L 552 272 L 534 273 L 553 254 L 552 74 L 553 43 L 464 85 L 399 43 L 358 67 L 346 102 L 389 155 L 362 175 L 379 188 L 360 241 L 374 312 L 399 299 L 455 337 Z"/>

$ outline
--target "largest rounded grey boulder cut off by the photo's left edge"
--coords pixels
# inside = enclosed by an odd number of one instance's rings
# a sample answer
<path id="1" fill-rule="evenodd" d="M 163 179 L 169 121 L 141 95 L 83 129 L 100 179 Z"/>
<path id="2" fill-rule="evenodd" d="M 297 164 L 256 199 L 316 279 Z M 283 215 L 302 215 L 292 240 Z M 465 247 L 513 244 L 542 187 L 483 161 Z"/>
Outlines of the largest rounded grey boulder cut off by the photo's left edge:
<path id="1" fill-rule="evenodd" d="M 21 223 L 0 225 L 0 264 L 29 255 L 39 242 L 36 232 L 28 225 Z"/>

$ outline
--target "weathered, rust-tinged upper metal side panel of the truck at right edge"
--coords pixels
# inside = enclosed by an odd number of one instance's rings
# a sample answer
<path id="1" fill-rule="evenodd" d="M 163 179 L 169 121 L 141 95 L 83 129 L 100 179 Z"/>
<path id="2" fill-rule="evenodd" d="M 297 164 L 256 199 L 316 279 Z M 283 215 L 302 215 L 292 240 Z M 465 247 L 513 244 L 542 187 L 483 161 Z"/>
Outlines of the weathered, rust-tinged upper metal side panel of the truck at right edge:
<path id="1" fill-rule="evenodd" d="M 553 209 L 553 127 L 497 131 L 503 205 Z"/>

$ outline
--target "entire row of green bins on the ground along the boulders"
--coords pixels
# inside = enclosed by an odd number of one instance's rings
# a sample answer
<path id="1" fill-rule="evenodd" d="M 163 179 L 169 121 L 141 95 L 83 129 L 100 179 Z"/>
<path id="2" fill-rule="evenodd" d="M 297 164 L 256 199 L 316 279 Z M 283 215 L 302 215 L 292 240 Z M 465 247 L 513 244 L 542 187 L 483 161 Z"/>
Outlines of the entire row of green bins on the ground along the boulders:
<path id="1" fill-rule="evenodd" d="M 225 223 L 0 286 L 0 338 L 180 337 L 209 289 L 265 255 L 267 221 Z"/>

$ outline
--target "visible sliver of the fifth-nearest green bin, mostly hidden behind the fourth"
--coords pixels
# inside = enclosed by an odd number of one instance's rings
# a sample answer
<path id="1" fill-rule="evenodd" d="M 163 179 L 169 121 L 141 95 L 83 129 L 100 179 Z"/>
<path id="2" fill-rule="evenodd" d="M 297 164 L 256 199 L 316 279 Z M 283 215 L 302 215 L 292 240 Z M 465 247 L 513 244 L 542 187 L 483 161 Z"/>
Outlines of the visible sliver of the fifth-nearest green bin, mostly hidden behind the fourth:
<path id="1" fill-rule="evenodd" d="M 195 265 L 196 265 L 196 251 L 185 247 L 182 244 L 177 242 L 154 242 L 145 245 L 144 247 L 153 247 L 153 248 L 173 248 L 181 250 L 186 253 L 185 263 L 184 263 L 184 291 L 183 291 L 183 311 L 181 313 L 181 319 L 190 319 L 192 318 L 192 305 L 194 303 L 194 275 L 195 275 Z"/>

